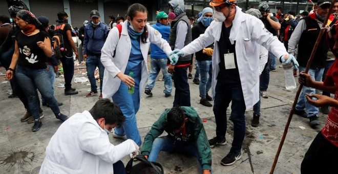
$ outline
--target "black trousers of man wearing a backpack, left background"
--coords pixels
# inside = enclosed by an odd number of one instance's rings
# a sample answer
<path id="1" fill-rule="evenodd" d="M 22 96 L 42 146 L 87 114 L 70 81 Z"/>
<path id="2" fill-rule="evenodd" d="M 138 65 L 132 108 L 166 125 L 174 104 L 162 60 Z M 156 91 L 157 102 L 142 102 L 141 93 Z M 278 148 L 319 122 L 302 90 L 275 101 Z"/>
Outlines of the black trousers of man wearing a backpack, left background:
<path id="1" fill-rule="evenodd" d="M 73 52 L 68 52 L 66 56 L 61 57 L 62 68 L 64 69 L 65 76 L 65 91 L 72 89 L 72 79 L 74 76 L 74 58 Z"/>

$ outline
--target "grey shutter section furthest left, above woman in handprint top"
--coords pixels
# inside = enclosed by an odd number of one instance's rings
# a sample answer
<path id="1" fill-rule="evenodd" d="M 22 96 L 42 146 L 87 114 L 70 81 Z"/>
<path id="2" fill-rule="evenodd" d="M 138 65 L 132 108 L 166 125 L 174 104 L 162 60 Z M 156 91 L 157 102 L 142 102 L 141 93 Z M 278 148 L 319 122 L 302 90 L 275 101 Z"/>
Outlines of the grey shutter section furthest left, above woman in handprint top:
<path id="1" fill-rule="evenodd" d="M 46 0 L 30 0 L 30 10 L 36 16 L 47 16 L 49 25 L 54 25 L 57 19 L 57 13 L 64 11 L 64 3 L 62 1 L 46 1 Z"/>

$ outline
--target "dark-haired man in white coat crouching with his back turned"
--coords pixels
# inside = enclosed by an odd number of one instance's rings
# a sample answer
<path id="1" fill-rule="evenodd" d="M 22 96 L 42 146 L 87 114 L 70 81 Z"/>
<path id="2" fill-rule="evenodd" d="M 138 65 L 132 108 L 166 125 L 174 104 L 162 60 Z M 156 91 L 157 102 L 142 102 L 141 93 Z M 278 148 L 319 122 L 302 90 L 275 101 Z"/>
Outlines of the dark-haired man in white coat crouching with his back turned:
<path id="1" fill-rule="evenodd" d="M 110 99 L 99 99 L 91 110 L 76 113 L 51 138 L 40 173 L 126 173 L 120 160 L 136 155 L 138 145 L 129 139 L 114 146 L 108 138 L 123 121 Z"/>

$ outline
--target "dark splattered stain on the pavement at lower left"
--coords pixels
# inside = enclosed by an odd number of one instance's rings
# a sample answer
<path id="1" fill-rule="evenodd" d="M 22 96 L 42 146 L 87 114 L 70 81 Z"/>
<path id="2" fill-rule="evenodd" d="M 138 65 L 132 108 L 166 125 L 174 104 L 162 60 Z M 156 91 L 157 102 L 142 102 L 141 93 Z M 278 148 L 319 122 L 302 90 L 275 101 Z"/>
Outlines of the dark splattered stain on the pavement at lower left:
<path id="1" fill-rule="evenodd" d="M 0 167 L 7 167 L 7 171 L 10 171 L 14 165 L 17 165 L 19 168 L 23 166 L 32 165 L 36 163 L 39 157 L 33 151 L 27 149 L 12 149 L 2 155 L 0 159 Z"/>

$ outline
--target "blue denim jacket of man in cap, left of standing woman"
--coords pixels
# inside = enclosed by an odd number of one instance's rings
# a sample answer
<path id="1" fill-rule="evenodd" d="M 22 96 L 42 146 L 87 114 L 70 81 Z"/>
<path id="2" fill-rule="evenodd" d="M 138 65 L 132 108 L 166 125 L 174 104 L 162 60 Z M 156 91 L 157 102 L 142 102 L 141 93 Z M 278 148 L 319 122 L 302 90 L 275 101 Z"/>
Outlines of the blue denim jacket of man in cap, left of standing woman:
<path id="1" fill-rule="evenodd" d="M 100 24 L 94 28 L 92 23 L 89 23 L 85 27 L 85 38 L 83 39 L 83 54 L 97 55 L 101 54 L 105 38 L 108 35 L 108 26 L 100 22 Z"/>

